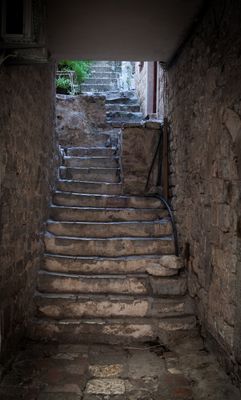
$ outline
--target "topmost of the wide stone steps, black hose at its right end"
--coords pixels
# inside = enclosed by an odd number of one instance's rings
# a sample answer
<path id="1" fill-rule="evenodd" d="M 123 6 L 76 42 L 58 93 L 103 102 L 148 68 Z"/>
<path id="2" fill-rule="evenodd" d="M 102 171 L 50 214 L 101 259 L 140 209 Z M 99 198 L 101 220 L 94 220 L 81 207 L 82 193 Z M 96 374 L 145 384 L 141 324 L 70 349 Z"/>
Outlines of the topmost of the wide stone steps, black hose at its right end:
<path id="1" fill-rule="evenodd" d="M 115 196 L 101 194 L 83 194 L 55 192 L 53 203 L 59 206 L 102 207 L 102 208 L 161 208 L 162 202 L 155 197 Z M 167 214 L 166 214 L 167 215 Z"/>

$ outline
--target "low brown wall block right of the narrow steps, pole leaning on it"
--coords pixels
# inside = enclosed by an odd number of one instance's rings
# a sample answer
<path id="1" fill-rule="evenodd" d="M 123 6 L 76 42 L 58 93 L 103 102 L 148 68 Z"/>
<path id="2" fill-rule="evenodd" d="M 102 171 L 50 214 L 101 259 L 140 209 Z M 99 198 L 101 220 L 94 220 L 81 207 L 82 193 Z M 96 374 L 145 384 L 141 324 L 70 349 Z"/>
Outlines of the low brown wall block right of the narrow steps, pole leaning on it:
<path id="1" fill-rule="evenodd" d="M 157 157 L 151 172 L 148 187 L 146 183 L 152 165 L 158 141 L 160 123 L 147 121 L 136 126 L 126 124 L 121 138 L 121 170 L 123 192 L 126 194 L 144 194 L 155 191 L 157 184 Z"/>

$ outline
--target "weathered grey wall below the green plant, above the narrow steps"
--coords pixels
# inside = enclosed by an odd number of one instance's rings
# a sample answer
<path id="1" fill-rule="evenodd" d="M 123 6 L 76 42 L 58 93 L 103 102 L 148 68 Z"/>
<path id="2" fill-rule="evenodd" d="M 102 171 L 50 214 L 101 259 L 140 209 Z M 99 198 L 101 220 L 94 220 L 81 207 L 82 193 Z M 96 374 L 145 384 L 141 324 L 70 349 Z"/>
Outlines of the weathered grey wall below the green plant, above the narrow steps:
<path id="1" fill-rule="evenodd" d="M 57 134 L 62 146 L 85 145 L 106 128 L 105 96 L 56 96 Z"/>

